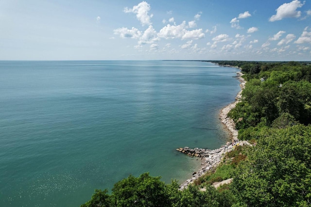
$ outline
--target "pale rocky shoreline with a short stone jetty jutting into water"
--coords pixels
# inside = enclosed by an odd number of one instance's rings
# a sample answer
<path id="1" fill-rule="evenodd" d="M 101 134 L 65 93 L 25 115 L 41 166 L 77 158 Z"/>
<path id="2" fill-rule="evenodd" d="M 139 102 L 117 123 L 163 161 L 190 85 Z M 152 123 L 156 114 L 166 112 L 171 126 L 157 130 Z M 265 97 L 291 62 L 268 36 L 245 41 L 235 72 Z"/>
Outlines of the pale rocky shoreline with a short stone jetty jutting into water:
<path id="1" fill-rule="evenodd" d="M 226 65 L 225 65 L 226 66 Z M 239 68 L 241 69 L 241 68 Z M 208 171 L 214 169 L 224 158 L 227 152 L 232 151 L 237 145 L 249 144 L 247 141 L 239 141 L 238 140 L 238 130 L 235 129 L 235 123 L 232 119 L 230 119 L 227 114 L 231 109 L 233 109 L 237 103 L 240 102 L 242 97 L 242 90 L 244 89 L 246 81 L 242 78 L 242 73 L 237 72 L 237 78 L 240 80 L 241 91 L 238 93 L 236 97 L 236 101 L 225 106 L 219 115 L 219 119 L 221 123 L 223 123 L 226 129 L 230 132 L 231 142 L 227 142 L 225 145 L 221 146 L 218 149 L 210 150 L 210 149 L 201 149 L 194 148 L 190 149 L 189 147 L 181 147 L 176 149 L 179 152 L 187 154 L 191 157 L 201 158 L 201 168 L 198 172 L 194 172 L 192 177 L 186 180 L 179 186 L 180 190 L 183 190 L 188 187 L 189 184 L 193 183 L 196 179 L 205 175 Z"/>

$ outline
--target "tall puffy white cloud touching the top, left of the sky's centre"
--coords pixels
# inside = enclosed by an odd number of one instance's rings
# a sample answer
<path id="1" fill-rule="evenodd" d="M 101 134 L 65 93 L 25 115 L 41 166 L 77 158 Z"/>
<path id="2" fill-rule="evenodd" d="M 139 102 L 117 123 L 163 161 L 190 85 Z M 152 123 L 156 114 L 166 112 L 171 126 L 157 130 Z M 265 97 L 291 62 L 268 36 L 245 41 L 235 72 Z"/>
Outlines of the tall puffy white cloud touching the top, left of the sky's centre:
<path id="1" fill-rule="evenodd" d="M 137 19 L 140 21 L 142 26 L 144 25 L 151 25 L 150 18 L 152 18 L 152 14 L 149 15 L 148 12 L 150 11 L 150 5 L 146 1 L 142 1 L 138 3 L 138 5 L 133 6 L 132 9 L 127 7 L 124 8 L 125 13 L 134 13 L 136 14 Z"/>

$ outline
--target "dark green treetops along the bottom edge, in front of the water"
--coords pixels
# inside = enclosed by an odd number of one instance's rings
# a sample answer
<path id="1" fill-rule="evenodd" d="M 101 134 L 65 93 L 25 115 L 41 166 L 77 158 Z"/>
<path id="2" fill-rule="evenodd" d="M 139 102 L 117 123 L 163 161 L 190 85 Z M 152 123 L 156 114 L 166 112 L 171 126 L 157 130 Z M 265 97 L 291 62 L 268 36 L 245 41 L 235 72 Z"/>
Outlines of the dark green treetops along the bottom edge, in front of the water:
<path id="1" fill-rule="evenodd" d="M 198 186 L 190 185 L 180 191 L 176 180 L 165 184 L 159 179 L 148 173 L 130 175 L 114 185 L 111 195 L 107 190 L 95 190 L 91 200 L 81 207 L 229 207 L 235 203 L 229 190 L 219 192 L 207 186 L 206 191 L 200 191 Z"/>

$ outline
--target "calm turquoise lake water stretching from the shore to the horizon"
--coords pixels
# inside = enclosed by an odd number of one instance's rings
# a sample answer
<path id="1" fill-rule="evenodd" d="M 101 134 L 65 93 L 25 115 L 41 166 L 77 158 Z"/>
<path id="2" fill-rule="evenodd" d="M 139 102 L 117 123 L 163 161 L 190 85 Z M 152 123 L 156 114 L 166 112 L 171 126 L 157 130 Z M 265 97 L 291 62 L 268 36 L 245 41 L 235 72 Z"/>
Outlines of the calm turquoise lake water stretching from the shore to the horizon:
<path id="1" fill-rule="evenodd" d="M 228 139 L 238 70 L 186 61 L 0 61 L 0 206 L 79 206 L 150 172 L 188 179 L 175 148 Z"/>

